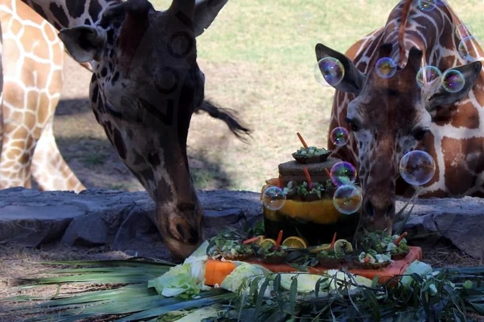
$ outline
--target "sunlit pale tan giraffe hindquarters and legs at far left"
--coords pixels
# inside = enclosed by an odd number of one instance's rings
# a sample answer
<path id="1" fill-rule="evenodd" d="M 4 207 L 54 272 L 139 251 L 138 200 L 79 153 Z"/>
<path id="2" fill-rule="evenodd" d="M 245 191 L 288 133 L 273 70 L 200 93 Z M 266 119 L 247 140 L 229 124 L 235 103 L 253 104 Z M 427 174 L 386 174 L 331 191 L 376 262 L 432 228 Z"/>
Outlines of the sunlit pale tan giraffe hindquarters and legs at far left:
<path id="1" fill-rule="evenodd" d="M 54 111 L 63 85 L 64 45 L 55 29 L 20 0 L 0 1 L 3 30 L 3 153 L 0 188 L 84 186 L 58 150 Z"/>

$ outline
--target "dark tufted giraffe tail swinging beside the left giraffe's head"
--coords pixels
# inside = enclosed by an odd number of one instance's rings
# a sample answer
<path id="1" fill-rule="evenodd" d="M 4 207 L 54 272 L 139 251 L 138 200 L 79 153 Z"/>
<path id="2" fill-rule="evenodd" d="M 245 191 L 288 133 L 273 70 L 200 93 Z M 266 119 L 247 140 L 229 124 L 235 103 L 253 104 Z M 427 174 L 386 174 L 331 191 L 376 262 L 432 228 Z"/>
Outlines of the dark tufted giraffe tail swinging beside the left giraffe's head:
<path id="1" fill-rule="evenodd" d="M 240 124 L 240 120 L 236 116 L 236 111 L 225 109 L 213 105 L 210 101 L 203 101 L 202 105 L 195 108 L 195 113 L 200 111 L 207 112 L 211 117 L 224 121 L 230 131 L 241 141 L 248 142 L 247 136 L 251 136 L 252 130 Z M 247 136 L 246 136 L 247 135 Z"/>

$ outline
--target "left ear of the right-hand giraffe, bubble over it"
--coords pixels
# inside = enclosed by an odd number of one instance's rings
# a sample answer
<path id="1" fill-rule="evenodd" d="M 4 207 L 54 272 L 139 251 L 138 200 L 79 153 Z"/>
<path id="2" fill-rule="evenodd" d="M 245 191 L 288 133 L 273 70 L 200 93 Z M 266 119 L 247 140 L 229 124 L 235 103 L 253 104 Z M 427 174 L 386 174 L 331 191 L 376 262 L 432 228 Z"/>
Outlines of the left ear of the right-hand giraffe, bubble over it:
<path id="1" fill-rule="evenodd" d="M 344 76 L 342 81 L 333 87 L 338 91 L 358 95 L 363 87 L 363 84 L 365 83 L 365 74 L 356 69 L 351 59 L 342 53 L 326 47 L 323 44 L 317 44 L 316 58 L 318 61 L 320 61 L 325 57 L 333 57 L 338 59 L 344 67 Z"/>

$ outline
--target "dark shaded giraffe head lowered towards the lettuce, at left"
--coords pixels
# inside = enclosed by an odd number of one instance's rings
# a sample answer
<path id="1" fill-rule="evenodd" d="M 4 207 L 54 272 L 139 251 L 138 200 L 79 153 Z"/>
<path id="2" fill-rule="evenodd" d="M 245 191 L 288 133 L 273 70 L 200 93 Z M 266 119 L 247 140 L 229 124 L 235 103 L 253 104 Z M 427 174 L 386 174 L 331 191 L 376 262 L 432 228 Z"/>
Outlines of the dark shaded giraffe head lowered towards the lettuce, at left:
<path id="1" fill-rule="evenodd" d="M 155 201 L 152 220 L 176 258 L 203 240 L 187 158 L 190 120 L 204 98 L 195 37 L 226 2 L 173 0 L 156 11 L 146 0 L 128 0 L 106 9 L 95 26 L 59 34 L 77 61 L 93 65 L 94 115 Z"/>

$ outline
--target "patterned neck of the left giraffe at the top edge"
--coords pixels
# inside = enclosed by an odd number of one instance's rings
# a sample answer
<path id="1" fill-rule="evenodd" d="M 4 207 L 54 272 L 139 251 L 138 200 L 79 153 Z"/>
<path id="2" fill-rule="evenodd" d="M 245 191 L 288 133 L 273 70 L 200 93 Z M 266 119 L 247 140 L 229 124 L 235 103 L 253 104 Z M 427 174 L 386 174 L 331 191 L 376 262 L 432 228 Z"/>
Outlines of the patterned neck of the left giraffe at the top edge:
<path id="1" fill-rule="evenodd" d="M 57 30 L 95 25 L 102 12 L 122 0 L 22 0 Z"/>

